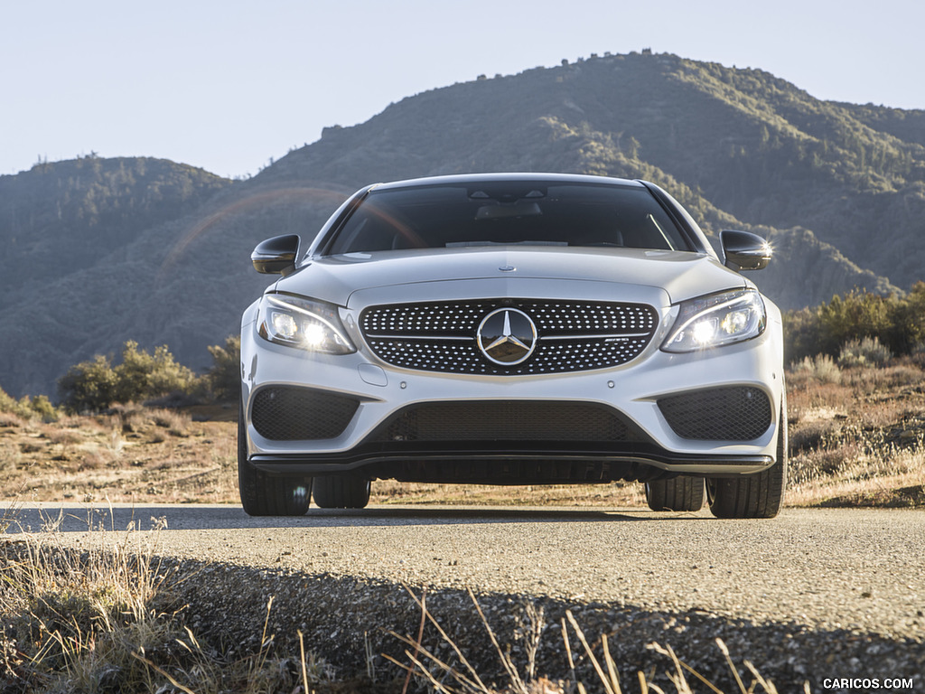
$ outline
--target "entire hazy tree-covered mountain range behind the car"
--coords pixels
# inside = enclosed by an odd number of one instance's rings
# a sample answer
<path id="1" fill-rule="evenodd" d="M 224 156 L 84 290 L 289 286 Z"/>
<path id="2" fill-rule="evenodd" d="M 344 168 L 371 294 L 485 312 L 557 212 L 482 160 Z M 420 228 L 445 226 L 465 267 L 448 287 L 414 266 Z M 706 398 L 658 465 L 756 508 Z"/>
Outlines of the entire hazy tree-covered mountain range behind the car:
<path id="1" fill-rule="evenodd" d="M 907 289 L 925 273 L 925 116 L 820 102 L 759 70 L 594 57 L 417 94 L 252 180 L 153 159 L 40 164 L 0 177 L 0 385 L 55 393 L 123 341 L 206 366 L 269 279 L 256 242 L 311 235 L 365 183 L 556 170 L 653 180 L 709 234 L 753 229 L 753 275 L 784 308 Z M 871 242 L 876 239 L 876 242 Z"/>

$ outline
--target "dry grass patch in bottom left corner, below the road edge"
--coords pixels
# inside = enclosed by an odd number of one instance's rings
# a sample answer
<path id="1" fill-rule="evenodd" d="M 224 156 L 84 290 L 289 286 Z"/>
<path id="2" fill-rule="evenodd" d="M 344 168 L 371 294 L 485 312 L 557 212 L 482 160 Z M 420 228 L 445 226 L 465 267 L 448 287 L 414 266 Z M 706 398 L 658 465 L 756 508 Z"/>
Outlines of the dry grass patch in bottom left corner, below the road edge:
<path id="1" fill-rule="evenodd" d="M 163 519 L 152 518 L 150 530 L 139 524 L 116 533 L 94 524 L 88 510 L 93 544 L 85 551 L 59 542 L 60 522 L 47 517 L 41 531 L 7 536 L 0 550 L 3 691 L 258 694 L 296 691 L 327 676 L 314 657 L 275 655 L 266 625 L 254 653 L 228 658 L 200 644 L 171 598 L 195 576 L 156 559 Z"/>

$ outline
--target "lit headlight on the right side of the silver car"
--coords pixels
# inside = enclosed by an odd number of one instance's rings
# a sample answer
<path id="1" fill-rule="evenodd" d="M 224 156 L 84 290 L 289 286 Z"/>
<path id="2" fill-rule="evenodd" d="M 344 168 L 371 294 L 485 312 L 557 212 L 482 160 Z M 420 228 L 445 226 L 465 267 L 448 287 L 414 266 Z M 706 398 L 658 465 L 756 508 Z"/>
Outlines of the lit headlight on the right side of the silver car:
<path id="1" fill-rule="evenodd" d="M 764 332 L 766 324 L 767 313 L 758 291 L 723 291 L 679 304 L 678 317 L 661 349 L 697 352 L 751 340 Z"/>

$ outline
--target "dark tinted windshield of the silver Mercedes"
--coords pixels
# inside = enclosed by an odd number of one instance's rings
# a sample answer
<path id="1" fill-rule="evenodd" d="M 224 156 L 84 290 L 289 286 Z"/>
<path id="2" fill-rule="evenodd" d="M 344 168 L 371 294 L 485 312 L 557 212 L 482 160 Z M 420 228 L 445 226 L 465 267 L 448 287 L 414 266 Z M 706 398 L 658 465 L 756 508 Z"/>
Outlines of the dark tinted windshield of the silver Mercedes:
<path id="1" fill-rule="evenodd" d="M 693 250 L 645 188 L 499 181 L 373 190 L 323 254 L 511 244 Z"/>

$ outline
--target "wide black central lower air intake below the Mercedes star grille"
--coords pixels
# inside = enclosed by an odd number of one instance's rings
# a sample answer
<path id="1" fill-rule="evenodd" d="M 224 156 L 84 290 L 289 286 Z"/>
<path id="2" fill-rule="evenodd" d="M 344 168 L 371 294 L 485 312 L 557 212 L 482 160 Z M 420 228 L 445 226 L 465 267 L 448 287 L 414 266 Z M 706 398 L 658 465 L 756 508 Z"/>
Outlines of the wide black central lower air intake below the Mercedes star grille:
<path id="1" fill-rule="evenodd" d="M 487 401 L 413 405 L 394 415 L 381 441 L 625 441 L 618 415 L 585 403 Z"/>

